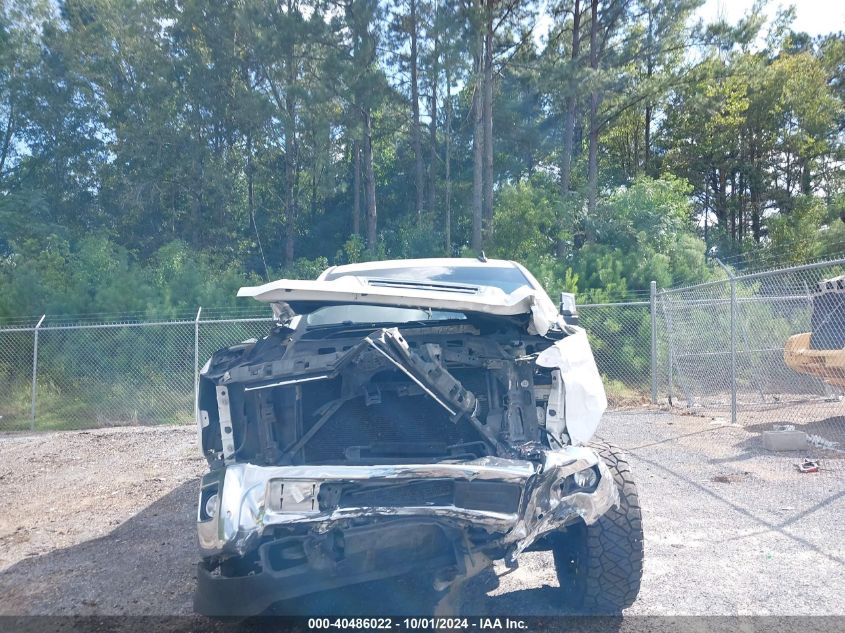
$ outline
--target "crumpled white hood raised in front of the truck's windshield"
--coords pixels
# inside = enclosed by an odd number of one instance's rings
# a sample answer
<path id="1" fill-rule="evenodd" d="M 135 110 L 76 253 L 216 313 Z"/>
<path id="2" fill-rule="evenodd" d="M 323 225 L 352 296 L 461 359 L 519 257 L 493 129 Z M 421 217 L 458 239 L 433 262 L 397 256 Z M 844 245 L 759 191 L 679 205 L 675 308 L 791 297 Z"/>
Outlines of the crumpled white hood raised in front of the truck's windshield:
<path id="1" fill-rule="evenodd" d="M 503 317 L 530 315 L 528 333 L 541 336 L 559 321 L 548 295 L 528 286 L 507 294 L 493 286 L 343 276 L 331 281 L 279 279 L 244 286 L 238 296 L 272 304 L 276 316 L 308 314 L 324 306 L 349 303 Z"/>

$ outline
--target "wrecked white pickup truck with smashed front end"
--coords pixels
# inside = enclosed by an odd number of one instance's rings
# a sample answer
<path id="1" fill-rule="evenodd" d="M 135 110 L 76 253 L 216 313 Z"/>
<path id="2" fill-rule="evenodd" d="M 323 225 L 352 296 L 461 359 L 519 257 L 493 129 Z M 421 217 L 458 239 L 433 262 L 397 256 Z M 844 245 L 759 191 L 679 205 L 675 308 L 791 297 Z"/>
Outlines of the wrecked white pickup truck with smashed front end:
<path id="1" fill-rule="evenodd" d="M 484 259 L 338 266 L 238 294 L 277 324 L 201 372 L 198 612 L 408 574 L 454 595 L 529 548 L 552 551 L 562 610 L 633 602 L 637 492 L 621 453 L 592 441 L 607 402 L 574 305 Z"/>

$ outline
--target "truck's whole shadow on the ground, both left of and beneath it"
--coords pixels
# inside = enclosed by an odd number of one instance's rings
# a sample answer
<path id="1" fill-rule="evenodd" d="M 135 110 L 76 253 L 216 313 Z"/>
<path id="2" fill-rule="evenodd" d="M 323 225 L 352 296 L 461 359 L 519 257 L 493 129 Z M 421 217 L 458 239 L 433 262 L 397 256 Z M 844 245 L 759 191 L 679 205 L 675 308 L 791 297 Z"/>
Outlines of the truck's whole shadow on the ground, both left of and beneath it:
<path id="1" fill-rule="evenodd" d="M 12 565 L 0 573 L 0 614 L 190 616 L 196 490 L 196 482 L 182 484 L 106 536 Z M 467 584 L 462 612 L 559 613 L 556 587 L 487 595 L 497 586 L 492 570 L 482 572 Z M 380 581 L 280 603 L 270 614 L 420 615 L 424 593 L 413 579 Z"/>

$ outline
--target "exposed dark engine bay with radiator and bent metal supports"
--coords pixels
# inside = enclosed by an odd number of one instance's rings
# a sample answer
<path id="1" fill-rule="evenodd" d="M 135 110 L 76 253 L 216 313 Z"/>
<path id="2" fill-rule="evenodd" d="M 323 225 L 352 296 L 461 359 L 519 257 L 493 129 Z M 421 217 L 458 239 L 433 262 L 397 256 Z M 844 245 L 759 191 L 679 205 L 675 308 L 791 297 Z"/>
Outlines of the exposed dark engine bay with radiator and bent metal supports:
<path id="1" fill-rule="evenodd" d="M 212 468 L 401 464 L 523 456 L 546 430 L 553 340 L 467 322 L 277 326 L 203 369 L 202 449 Z M 558 412 L 552 410 L 553 416 Z"/>

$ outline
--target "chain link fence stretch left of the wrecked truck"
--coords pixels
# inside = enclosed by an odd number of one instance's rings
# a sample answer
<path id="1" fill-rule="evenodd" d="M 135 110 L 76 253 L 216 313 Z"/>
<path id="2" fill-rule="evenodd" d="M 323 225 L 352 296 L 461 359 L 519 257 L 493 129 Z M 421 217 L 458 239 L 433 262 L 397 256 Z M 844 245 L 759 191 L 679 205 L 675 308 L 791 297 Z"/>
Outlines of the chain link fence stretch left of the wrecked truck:
<path id="1" fill-rule="evenodd" d="M 0 430 L 186 424 L 199 367 L 267 317 L 0 329 Z"/>

